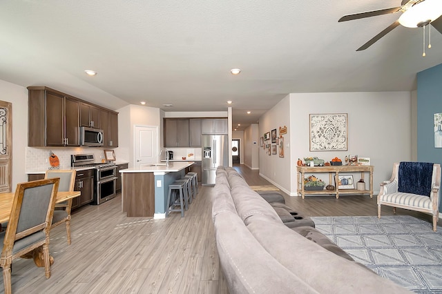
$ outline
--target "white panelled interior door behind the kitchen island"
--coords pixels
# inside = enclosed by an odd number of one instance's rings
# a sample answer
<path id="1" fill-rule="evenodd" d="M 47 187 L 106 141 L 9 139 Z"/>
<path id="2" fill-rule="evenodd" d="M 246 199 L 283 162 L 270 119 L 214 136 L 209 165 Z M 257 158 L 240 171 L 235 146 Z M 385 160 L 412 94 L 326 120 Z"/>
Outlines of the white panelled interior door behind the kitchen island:
<path id="1" fill-rule="evenodd" d="M 135 168 L 153 164 L 158 158 L 158 127 L 135 126 Z"/>

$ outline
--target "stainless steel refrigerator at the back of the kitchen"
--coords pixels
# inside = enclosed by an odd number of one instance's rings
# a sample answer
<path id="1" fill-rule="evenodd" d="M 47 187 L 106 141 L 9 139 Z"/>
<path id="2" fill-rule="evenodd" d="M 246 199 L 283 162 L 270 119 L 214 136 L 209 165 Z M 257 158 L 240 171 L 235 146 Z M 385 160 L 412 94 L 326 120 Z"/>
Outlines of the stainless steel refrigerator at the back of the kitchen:
<path id="1" fill-rule="evenodd" d="M 216 168 L 229 166 L 229 136 L 202 135 L 201 148 L 201 184 L 212 186 L 215 185 Z"/>

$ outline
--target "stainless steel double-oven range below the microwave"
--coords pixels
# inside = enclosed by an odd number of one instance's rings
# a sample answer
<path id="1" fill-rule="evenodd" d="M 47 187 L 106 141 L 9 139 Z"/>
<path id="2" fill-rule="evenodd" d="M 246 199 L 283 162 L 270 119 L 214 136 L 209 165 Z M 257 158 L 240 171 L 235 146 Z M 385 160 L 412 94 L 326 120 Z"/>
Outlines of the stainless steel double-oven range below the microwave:
<path id="1" fill-rule="evenodd" d="M 114 198 L 117 193 L 117 166 L 115 162 L 95 162 L 93 154 L 70 155 L 70 165 L 75 167 L 95 168 L 94 201 L 98 205 Z"/>

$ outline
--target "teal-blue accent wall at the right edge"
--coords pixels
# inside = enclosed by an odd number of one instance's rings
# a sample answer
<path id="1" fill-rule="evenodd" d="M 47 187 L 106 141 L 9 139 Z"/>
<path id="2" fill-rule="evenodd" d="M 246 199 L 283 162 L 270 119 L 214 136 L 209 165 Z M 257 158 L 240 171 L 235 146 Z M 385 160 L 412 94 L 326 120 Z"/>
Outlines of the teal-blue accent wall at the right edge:
<path id="1" fill-rule="evenodd" d="M 434 148 L 434 113 L 442 112 L 442 64 L 417 74 L 417 160 L 442 164 L 442 148 Z M 439 211 L 442 211 L 442 203 Z"/>

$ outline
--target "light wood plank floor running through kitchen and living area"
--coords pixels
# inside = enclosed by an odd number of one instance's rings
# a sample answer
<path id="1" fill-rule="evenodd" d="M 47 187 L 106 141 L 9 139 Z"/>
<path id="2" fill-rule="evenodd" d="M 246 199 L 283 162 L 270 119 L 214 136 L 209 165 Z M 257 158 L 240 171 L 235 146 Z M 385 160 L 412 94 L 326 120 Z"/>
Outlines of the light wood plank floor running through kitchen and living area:
<path id="1" fill-rule="evenodd" d="M 251 186 L 271 185 L 258 170 L 235 166 Z M 30 259 L 12 264 L 14 293 L 228 293 L 219 267 L 211 197 L 213 188 L 202 186 L 185 217 L 168 219 L 126 217 L 121 198 L 74 211 L 72 244 L 66 228 L 51 231 L 50 253 L 55 258 L 52 276 Z M 289 197 L 292 208 L 309 216 L 376 215 L 376 197 L 340 195 Z M 398 209 L 431 222 L 431 217 Z M 383 208 L 383 215 L 392 215 Z M 0 285 L 3 293 L 3 284 Z"/>

